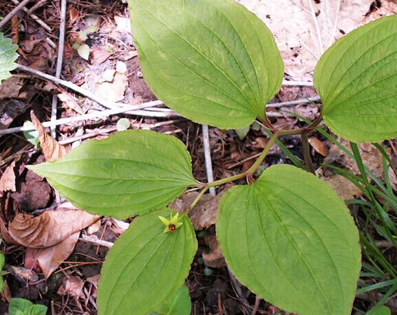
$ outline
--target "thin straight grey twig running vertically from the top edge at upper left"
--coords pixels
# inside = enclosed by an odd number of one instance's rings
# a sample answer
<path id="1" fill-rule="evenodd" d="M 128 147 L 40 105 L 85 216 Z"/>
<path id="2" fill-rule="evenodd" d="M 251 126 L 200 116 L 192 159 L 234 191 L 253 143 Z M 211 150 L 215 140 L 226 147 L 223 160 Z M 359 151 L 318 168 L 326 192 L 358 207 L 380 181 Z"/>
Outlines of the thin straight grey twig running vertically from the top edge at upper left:
<path id="1" fill-rule="evenodd" d="M 56 79 L 61 79 L 62 65 L 63 65 L 63 50 L 65 48 L 65 23 L 66 23 L 66 0 L 61 0 L 61 22 L 59 26 L 59 41 L 58 41 L 58 57 L 56 59 Z M 56 105 L 58 105 L 58 97 L 52 96 L 51 106 L 51 121 L 56 121 Z M 52 138 L 56 139 L 56 128 L 51 126 Z"/>

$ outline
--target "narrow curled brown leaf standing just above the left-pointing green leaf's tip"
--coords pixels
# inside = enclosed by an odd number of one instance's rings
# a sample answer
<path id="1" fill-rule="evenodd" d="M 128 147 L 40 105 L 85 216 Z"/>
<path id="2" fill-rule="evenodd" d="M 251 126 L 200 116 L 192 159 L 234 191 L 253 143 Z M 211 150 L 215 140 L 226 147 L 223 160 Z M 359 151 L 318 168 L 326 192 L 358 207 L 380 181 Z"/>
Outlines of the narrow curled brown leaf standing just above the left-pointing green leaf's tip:
<path id="1" fill-rule="evenodd" d="M 41 125 L 41 122 L 39 121 L 39 119 L 37 119 L 33 111 L 30 112 L 30 117 L 32 119 L 34 128 L 36 128 L 36 130 L 39 132 L 39 141 L 45 161 L 53 162 L 66 155 L 66 148 L 63 145 L 60 145 L 58 141 L 53 139 L 50 134 L 47 134 L 47 132 L 45 132 L 45 128 L 43 127 L 43 125 Z"/>

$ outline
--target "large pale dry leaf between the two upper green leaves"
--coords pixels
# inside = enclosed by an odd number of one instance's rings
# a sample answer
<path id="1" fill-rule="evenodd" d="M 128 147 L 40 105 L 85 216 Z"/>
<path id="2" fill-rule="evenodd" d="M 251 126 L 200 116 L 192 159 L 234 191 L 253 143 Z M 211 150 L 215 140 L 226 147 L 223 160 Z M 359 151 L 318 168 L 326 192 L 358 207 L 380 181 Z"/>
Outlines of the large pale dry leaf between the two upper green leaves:
<path id="1" fill-rule="evenodd" d="M 311 79 L 326 48 L 343 34 L 363 25 L 373 0 L 237 0 L 266 23 L 275 35 L 285 72 L 297 80 Z M 339 6 L 340 3 L 340 6 Z M 312 14 L 312 8 L 314 14 Z M 313 15 L 316 15 L 314 22 Z M 319 30 L 319 35 L 317 32 Z M 315 57 L 314 57 L 315 56 Z"/>

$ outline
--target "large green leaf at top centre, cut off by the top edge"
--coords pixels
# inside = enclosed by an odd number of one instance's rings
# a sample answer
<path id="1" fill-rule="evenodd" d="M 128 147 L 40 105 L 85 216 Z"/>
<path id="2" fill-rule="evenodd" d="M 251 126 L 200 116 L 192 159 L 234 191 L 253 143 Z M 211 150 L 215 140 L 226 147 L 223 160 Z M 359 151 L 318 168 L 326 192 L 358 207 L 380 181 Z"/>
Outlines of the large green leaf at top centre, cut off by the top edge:
<path id="1" fill-rule="evenodd" d="M 244 128 L 264 118 L 283 62 L 272 33 L 231 0 L 129 0 L 144 79 L 197 123 Z"/>

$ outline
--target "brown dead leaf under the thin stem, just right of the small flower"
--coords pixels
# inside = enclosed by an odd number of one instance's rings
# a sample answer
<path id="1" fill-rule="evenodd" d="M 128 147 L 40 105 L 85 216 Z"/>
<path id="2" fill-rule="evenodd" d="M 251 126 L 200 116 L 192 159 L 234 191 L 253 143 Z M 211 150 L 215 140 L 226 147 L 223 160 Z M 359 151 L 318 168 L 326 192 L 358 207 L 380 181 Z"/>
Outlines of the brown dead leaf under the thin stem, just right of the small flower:
<path id="1" fill-rule="evenodd" d="M 169 207 L 175 211 L 182 212 L 189 207 L 197 194 L 198 192 L 188 192 L 187 194 L 183 194 L 180 198 L 171 203 Z M 215 197 L 211 196 L 211 194 L 204 194 L 195 207 L 193 207 L 189 213 L 189 218 L 191 219 L 196 231 L 206 229 L 210 225 L 216 223 L 218 203 L 222 194 L 223 192 L 220 192 Z"/>

